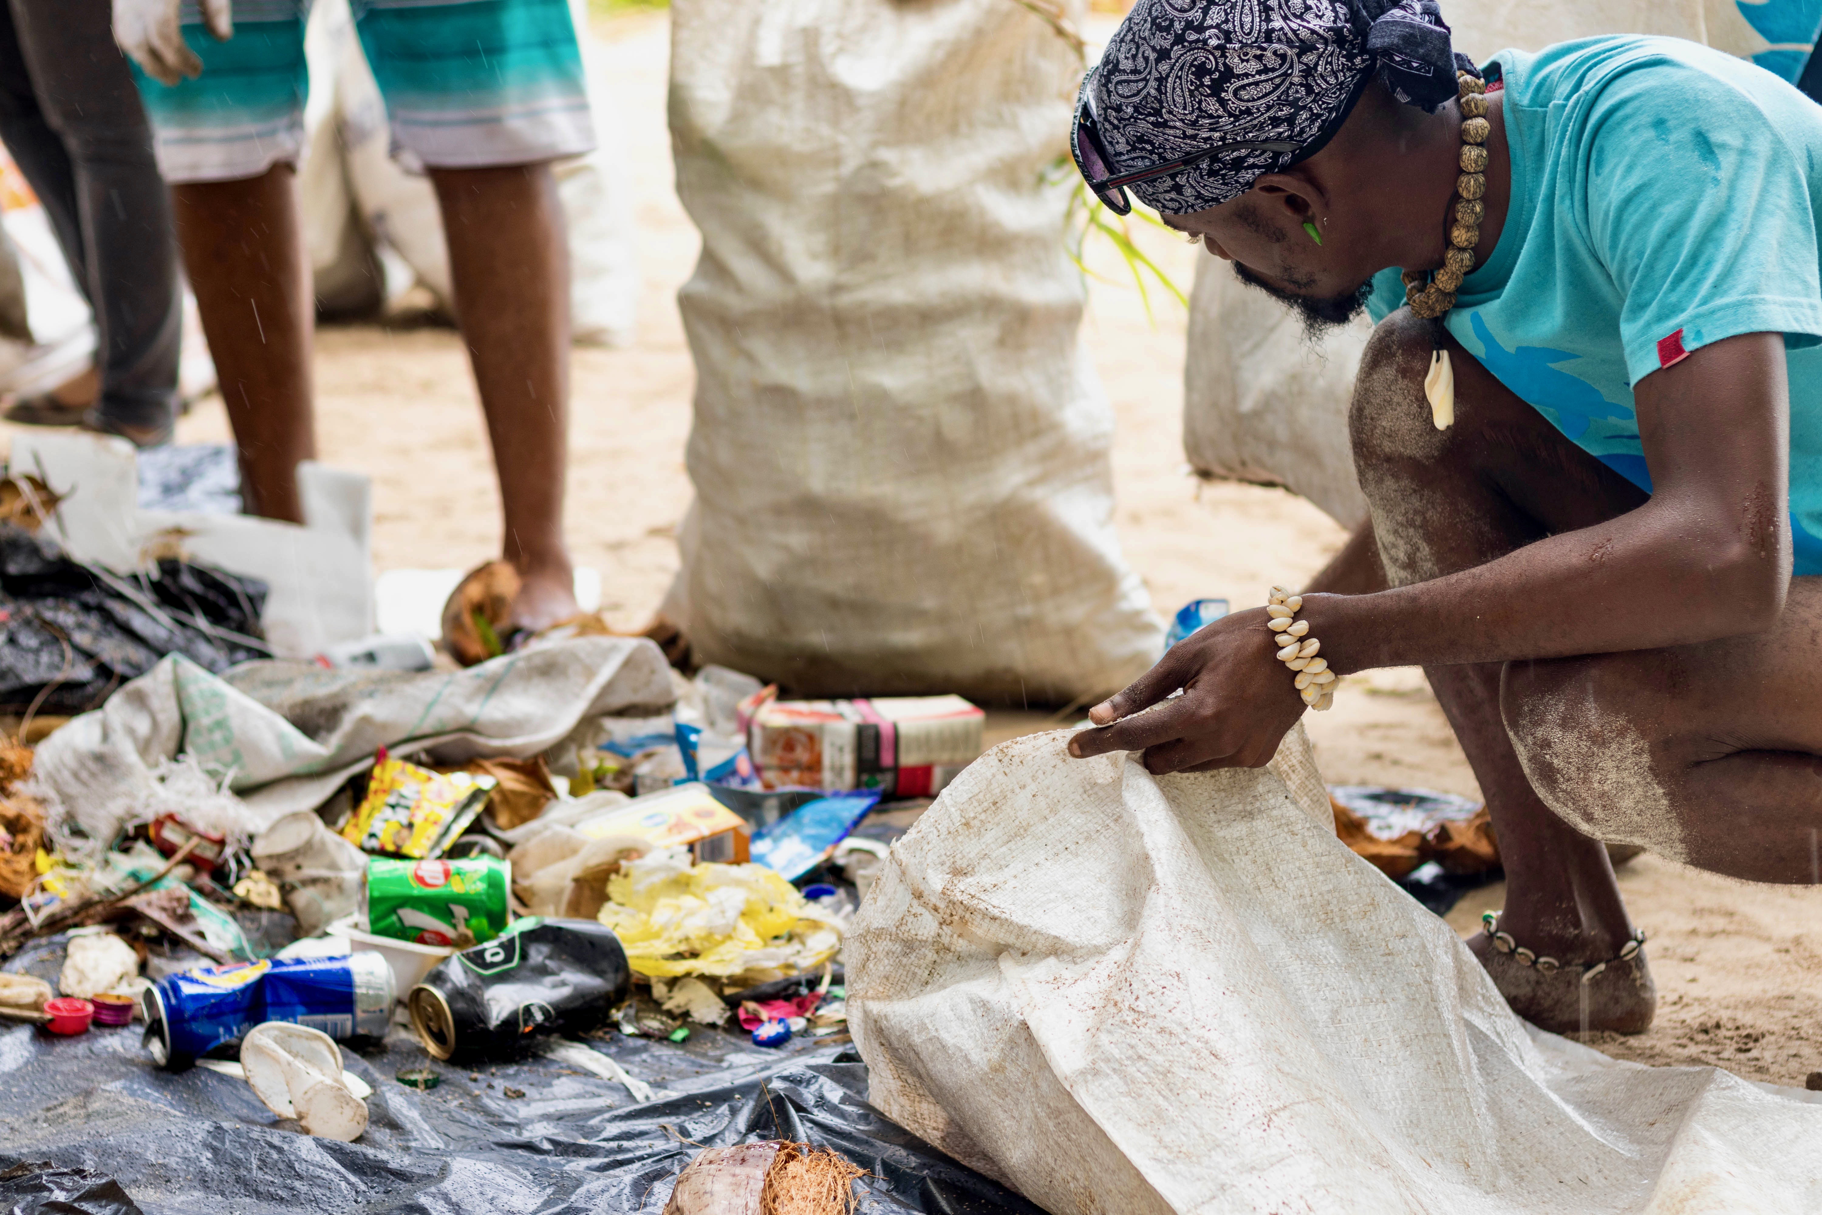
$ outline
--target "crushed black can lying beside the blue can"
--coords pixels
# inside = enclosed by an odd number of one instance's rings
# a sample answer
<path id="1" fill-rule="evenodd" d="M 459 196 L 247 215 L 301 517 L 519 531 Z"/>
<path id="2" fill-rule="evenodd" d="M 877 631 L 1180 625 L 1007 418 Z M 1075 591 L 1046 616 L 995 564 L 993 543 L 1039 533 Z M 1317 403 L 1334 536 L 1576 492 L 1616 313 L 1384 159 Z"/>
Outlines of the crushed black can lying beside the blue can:
<path id="1" fill-rule="evenodd" d="M 412 1031 L 434 1058 L 501 1058 L 534 1035 L 605 1024 L 632 989 L 619 938 L 594 920 L 527 916 L 412 987 Z"/>

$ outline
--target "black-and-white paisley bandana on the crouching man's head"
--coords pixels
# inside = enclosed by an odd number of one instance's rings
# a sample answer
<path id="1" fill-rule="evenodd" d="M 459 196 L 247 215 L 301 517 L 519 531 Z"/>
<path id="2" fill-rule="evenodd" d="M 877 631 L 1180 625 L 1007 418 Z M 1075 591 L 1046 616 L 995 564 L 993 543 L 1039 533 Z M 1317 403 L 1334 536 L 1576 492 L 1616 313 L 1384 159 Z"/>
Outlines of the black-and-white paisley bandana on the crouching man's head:
<path id="1" fill-rule="evenodd" d="M 1436 0 L 1139 0 L 1088 82 L 1115 169 L 1215 144 L 1281 140 L 1295 151 L 1230 151 L 1128 186 L 1164 215 L 1221 206 L 1315 155 L 1377 73 L 1430 113 L 1472 60 L 1448 46 Z"/>

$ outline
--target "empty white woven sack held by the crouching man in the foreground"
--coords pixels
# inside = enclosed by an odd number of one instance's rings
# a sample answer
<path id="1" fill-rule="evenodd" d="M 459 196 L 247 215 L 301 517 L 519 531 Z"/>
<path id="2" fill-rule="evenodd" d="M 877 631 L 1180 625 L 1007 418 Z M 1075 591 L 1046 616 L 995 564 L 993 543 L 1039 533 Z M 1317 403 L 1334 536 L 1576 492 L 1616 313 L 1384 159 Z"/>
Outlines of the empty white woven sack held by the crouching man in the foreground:
<path id="1" fill-rule="evenodd" d="M 977 760 L 847 938 L 869 1100 L 1053 1215 L 1822 1210 L 1822 1093 L 1530 1029 L 1336 840 L 1308 745 Z"/>

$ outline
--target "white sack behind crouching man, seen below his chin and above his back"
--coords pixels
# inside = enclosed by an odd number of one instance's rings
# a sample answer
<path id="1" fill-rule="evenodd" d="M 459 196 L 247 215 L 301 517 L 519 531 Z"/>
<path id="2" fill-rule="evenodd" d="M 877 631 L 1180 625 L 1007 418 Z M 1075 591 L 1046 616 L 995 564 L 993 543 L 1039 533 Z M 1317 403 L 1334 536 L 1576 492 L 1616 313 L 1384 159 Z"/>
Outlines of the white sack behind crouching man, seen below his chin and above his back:
<path id="1" fill-rule="evenodd" d="M 1540 49 L 1602 33 L 1705 40 L 1736 55 L 1767 46 L 1733 0 L 1445 0 L 1443 16 L 1456 49 L 1478 62 L 1505 47 Z M 1348 401 L 1370 333 L 1363 315 L 1312 342 L 1288 308 L 1244 286 L 1228 262 L 1197 259 L 1182 370 L 1190 465 L 1215 477 L 1285 485 L 1346 528 L 1363 523 Z"/>

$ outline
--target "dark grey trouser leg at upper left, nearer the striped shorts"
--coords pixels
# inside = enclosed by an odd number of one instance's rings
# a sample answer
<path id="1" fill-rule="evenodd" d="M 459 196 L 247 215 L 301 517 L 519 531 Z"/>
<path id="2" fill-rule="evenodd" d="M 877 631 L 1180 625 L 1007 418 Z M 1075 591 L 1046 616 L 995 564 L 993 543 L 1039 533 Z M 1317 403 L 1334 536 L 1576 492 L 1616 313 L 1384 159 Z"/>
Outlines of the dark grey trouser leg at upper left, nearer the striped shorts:
<path id="1" fill-rule="evenodd" d="M 73 169 L 82 257 L 71 257 L 71 268 L 100 330 L 100 397 L 87 421 L 142 446 L 169 441 L 182 346 L 177 248 L 109 0 L 9 7 L 38 104 Z"/>

